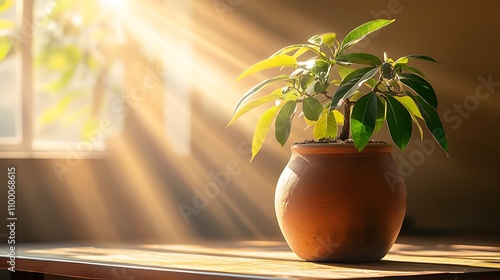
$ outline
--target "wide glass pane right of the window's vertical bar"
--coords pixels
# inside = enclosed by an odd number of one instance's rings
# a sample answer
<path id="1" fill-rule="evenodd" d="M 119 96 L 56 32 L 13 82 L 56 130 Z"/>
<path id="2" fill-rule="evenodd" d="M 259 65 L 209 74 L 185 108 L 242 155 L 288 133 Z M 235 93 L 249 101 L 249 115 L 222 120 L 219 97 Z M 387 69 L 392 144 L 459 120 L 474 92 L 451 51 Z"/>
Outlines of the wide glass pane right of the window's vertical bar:
<path id="1" fill-rule="evenodd" d="M 97 5 L 35 1 L 34 148 L 92 142 L 99 150 L 121 129 L 112 108 L 123 92 L 123 67 L 110 52 L 123 43 L 122 31 Z"/>

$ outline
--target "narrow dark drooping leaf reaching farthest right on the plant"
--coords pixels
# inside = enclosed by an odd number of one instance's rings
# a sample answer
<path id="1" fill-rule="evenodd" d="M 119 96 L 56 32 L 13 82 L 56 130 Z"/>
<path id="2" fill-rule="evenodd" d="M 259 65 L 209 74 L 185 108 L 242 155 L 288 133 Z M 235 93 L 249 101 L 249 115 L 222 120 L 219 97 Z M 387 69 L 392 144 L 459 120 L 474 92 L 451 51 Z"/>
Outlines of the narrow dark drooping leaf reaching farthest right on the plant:
<path id="1" fill-rule="evenodd" d="M 422 113 L 424 117 L 425 125 L 431 132 L 434 139 L 439 143 L 441 148 L 448 155 L 448 142 L 446 140 L 446 133 L 443 128 L 443 124 L 439 119 L 439 114 L 436 109 L 430 106 L 422 97 L 418 95 L 413 95 L 410 92 L 407 92 L 408 96 L 410 96 L 418 106 L 418 109 Z"/>

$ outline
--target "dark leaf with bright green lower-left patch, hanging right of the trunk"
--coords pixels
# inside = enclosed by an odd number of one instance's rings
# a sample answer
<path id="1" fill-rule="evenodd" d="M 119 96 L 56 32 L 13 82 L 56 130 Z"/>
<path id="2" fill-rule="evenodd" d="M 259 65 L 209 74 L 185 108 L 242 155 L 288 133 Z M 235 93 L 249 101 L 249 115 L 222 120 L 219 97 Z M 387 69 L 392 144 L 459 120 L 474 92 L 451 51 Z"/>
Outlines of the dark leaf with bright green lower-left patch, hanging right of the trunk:
<path id="1" fill-rule="evenodd" d="M 375 130 L 377 100 L 377 94 L 370 92 L 356 101 L 352 108 L 351 135 L 359 151 L 368 144 Z"/>

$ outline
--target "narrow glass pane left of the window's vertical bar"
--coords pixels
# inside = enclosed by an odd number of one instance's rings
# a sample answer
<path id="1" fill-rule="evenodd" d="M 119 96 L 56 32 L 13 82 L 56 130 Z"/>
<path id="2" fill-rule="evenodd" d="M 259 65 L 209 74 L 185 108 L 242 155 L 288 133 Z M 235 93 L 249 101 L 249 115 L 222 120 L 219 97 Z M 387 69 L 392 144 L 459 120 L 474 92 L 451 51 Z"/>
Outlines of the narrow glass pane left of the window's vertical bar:
<path id="1" fill-rule="evenodd" d="M 0 1 L 0 144 L 20 144 L 21 99 L 17 81 L 14 24 L 17 1 Z"/>

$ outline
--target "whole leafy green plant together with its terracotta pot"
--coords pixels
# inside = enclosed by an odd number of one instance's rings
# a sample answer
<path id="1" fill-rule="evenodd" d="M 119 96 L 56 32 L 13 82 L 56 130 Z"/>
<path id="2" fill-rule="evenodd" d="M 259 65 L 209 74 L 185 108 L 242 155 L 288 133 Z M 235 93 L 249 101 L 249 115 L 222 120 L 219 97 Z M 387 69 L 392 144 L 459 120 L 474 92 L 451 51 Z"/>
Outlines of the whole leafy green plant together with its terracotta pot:
<path id="1" fill-rule="evenodd" d="M 229 124 L 272 104 L 257 121 L 252 159 L 273 121 L 282 146 L 296 114 L 312 129 L 314 140 L 292 145 L 275 197 L 282 233 L 302 259 L 375 261 L 395 242 L 406 212 L 406 188 L 397 175 L 392 146 L 371 140 L 384 123 L 400 150 L 407 146 L 413 127 L 423 137 L 425 124 L 447 153 L 435 92 L 424 74 L 409 65 L 413 59 L 436 61 L 420 54 L 393 60 L 385 53 L 381 59 L 348 52 L 393 21 L 364 23 L 340 41 L 335 33 L 315 35 L 307 43 L 280 49 L 238 77 L 270 68 L 290 69 L 252 87 L 236 105 Z M 251 100 L 270 85 L 278 87 Z"/>

